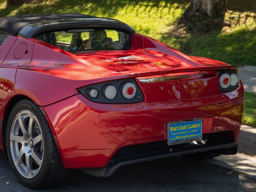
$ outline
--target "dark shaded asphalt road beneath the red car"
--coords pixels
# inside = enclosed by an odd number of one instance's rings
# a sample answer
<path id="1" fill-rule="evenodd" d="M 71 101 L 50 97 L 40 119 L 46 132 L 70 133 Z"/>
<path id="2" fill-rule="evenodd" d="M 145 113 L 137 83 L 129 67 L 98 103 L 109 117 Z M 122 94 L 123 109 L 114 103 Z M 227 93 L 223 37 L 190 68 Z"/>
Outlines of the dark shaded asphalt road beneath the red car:
<path id="1" fill-rule="evenodd" d="M 6 176 L 6 177 L 5 177 Z M 3 178 L 1 178 L 3 177 Z M 6 184 L 9 182 L 9 184 Z M 32 192 L 21 185 L 0 151 L 0 192 Z M 123 166 L 109 178 L 74 170 L 63 185 L 38 192 L 256 191 L 256 178 L 206 161 L 172 157 Z"/>

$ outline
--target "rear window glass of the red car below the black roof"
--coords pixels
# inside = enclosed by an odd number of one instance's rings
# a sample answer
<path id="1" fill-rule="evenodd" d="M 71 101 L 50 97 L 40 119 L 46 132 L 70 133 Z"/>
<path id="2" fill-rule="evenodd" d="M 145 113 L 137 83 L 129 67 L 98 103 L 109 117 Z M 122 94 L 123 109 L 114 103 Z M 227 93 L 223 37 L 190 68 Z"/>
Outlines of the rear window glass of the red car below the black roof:
<path id="1" fill-rule="evenodd" d="M 70 29 L 41 33 L 36 39 L 69 52 L 129 49 L 130 35 L 114 29 Z"/>

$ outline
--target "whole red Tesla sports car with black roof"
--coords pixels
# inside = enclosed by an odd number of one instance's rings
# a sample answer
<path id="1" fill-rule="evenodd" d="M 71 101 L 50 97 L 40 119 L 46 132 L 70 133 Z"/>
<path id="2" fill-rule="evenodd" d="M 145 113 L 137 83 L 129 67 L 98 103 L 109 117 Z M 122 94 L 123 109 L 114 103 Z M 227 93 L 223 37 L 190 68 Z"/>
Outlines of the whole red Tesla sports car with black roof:
<path id="1" fill-rule="evenodd" d="M 25 186 L 70 169 L 236 154 L 244 111 L 237 68 L 186 56 L 119 20 L 0 18 L 0 149 Z"/>

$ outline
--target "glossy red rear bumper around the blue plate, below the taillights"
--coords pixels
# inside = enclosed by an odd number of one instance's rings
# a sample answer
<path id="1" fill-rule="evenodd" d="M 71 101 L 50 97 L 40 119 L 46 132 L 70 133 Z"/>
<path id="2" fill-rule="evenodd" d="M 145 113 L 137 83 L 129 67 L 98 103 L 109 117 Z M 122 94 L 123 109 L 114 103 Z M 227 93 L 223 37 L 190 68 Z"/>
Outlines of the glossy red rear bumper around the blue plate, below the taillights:
<path id="1" fill-rule="evenodd" d="M 64 167 L 113 167 L 108 168 L 110 171 L 106 169 L 102 177 L 111 175 L 123 164 L 152 158 L 225 148 L 232 152 L 224 150 L 223 154 L 236 154 L 243 110 L 243 88 L 197 100 L 126 105 L 93 103 L 78 94 L 44 107 Z M 168 122 L 193 118 L 203 118 L 203 134 L 227 131 L 230 141 L 133 160 L 111 160 L 125 146 L 165 141 Z"/>

